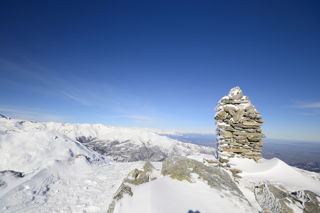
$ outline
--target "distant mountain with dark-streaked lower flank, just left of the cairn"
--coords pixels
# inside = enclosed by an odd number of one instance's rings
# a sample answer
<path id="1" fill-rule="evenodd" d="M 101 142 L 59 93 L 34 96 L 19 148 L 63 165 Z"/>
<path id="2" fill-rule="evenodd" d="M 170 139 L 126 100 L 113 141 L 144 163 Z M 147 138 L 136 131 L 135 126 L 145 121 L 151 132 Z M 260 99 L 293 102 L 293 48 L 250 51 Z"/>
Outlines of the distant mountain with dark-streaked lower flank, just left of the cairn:
<path id="1" fill-rule="evenodd" d="M 113 134 L 113 133 L 112 133 Z M 182 143 L 146 130 L 131 130 L 118 138 L 112 134 L 83 140 L 83 144 L 120 162 L 138 160 L 163 161 L 169 156 L 214 154 L 215 148 Z"/>

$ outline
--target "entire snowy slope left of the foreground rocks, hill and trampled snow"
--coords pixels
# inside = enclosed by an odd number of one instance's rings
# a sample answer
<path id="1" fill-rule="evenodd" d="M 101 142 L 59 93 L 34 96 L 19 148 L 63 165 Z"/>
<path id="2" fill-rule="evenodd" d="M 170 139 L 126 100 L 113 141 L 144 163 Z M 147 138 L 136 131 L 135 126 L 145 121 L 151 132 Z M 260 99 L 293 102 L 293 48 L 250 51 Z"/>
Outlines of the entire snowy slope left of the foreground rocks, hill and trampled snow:
<path id="1" fill-rule="evenodd" d="M 55 131 L 0 135 L 0 153 L 0 212 L 105 212 L 130 167 Z"/>

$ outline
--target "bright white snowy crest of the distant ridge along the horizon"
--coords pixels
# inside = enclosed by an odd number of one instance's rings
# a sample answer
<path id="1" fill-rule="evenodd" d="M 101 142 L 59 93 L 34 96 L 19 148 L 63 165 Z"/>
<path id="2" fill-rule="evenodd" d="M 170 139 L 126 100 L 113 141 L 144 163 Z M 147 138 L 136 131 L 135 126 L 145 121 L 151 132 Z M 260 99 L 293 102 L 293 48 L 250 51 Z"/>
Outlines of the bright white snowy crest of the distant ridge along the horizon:
<path id="1" fill-rule="evenodd" d="M 177 135 L 174 131 L 146 129 L 146 128 L 128 128 L 128 127 L 112 127 L 102 124 L 64 124 L 56 122 L 36 123 L 24 120 L 0 118 L 0 131 L 7 133 L 14 132 L 36 132 L 44 130 L 53 130 L 60 132 L 72 139 L 85 136 L 87 138 L 99 138 L 108 141 L 130 141 L 136 145 L 159 146 L 164 150 L 171 149 L 175 145 L 185 148 L 183 152 L 188 153 L 190 150 L 197 152 L 199 146 L 182 143 L 181 141 L 171 139 L 161 134 Z M 3 134 L 0 132 L 0 134 Z M 158 134 L 159 133 L 159 134 Z M 205 147 L 204 147 L 205 148 Z M 213 148 L 208 148 L 213 150 Z"/>

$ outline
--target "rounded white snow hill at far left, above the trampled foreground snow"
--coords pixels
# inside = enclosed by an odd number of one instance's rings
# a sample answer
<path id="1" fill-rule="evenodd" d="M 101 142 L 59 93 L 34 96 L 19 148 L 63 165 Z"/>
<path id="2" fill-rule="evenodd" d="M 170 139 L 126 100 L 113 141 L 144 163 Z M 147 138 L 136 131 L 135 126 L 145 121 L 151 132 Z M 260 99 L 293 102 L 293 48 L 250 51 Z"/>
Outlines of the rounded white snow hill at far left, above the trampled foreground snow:
<path id="1" fill-rule="evenodd" d="M 52 130 L 3 134 L 0 135 L 0 141 L 3 151 L 0 156 L 2 170 L 30 173 L 47 162 L 66 160 L 75 156 L 85 156 L 92 163 L 110 161 L 78 141 Z M 19 154 L 14 155 L 12 152 Z"/>

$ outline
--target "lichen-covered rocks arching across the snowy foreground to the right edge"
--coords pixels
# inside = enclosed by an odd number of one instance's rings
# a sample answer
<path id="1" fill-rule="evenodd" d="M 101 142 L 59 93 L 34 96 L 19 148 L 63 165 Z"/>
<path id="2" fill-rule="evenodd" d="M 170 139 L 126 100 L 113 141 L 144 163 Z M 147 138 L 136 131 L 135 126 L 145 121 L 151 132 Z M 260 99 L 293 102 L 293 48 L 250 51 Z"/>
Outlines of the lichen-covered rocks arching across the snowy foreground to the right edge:
<path id="1" fill-rule="evenodd" d="M 164 176 L 170 176 L 172 179 L 180 181 L 189 181 L 190 184 L 208 184 L 216 190 L 215 193 L 220 194 L 221 198 L 230 199 L 233 203 L 241 203 L 247 212 L 320 212 L 320 198 L 315 193 L 307 190 L 292 192 L 287 190 L 284 185 L 269 180 L 262 182 L 244 180 L 241 182 L 241 170 L 228 168 L 227 164 L 219 163 L 215 158 L 203 159 L 203 162 L 200 162 L 188 157 L 171 156 L 163 161 L 161 173 L 149 161 L 146 161 L 142 168 L 137 168 L 131 170 L 123 180 L 113 196 L 107 213 L 118 212 L 117 207 L 121 205 L 121 199 L 125 194 L 131 197 L 135 195 L 134 185 L 148 184 L 148 182 L 164 178 Z M 244 187 L 245 191 L 243 191 Z M 152 187 L 152 190 L 157 190 L 157 188 Z M 250 191 L 252 194 L 249 193 Z M 256 200 L 254 201 L 253 198 Z"/>

